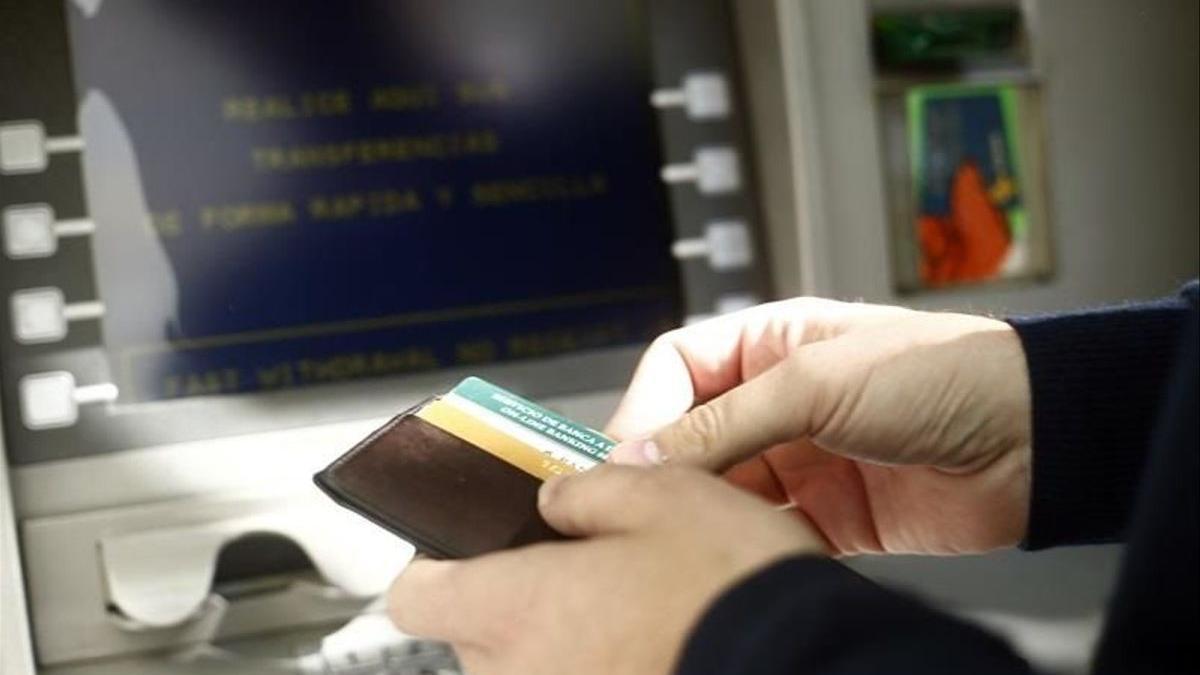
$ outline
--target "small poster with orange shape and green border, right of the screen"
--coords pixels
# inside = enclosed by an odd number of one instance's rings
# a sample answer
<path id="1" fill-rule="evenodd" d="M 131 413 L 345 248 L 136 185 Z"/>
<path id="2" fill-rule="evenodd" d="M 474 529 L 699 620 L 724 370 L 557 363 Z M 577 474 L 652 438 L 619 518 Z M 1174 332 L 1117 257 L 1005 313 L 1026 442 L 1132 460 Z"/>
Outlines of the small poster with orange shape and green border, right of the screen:
<path id="1" fill-rule="evenodd" d="M 898 289 L 1049 275 L 1037 90 L 920 85 L 883 109 Z"/>

